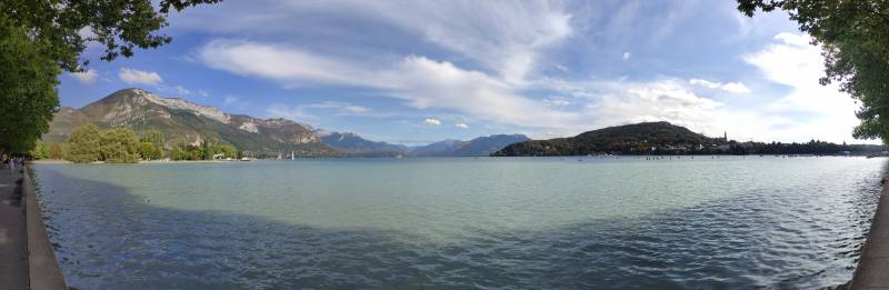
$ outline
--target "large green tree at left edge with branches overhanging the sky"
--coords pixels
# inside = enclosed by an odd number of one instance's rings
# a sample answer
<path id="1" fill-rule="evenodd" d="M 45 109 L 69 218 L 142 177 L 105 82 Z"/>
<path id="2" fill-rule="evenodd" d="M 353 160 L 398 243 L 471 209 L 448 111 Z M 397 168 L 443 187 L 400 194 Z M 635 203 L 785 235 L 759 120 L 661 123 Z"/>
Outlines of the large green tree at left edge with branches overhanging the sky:
<path id="1" fill-rule="evenodd" d="M 172 39 L 154 34 L 171 10 L 219 0 L 0 1 L 0 154 L 26 152 L 49 128 L 62 70 L 82 71 L 88 43 L 102 60 L 131 57 Z M 87 157 L 87 156 L 78 156 Z"/>

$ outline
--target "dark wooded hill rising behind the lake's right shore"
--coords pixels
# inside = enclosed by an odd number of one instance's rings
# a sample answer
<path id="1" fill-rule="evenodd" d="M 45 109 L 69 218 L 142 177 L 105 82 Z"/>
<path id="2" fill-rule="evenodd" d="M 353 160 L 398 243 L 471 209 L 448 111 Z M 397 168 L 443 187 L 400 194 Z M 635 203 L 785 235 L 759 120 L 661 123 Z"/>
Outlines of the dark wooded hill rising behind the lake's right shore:
<path id="1" fill-rule="evenodd" d="M 652 149 L 693 150 L 726 142 L 722 138 L 709 138 L 668 122 L 645 122 L 592 130 L 570 138 L 515 143 L 495 156 L 632 154 L 651 152 Z"/>

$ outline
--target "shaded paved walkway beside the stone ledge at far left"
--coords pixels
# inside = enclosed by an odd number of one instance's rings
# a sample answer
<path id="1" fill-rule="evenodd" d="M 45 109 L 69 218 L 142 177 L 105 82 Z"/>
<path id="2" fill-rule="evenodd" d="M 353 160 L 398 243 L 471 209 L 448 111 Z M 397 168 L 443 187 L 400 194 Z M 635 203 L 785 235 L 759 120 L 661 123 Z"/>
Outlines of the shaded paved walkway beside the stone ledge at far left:
<path id="1" fill-rule="evenodd" d="M 28 289 L 28 248 L 21 168 L 0 164 L 0 289 Z"/>

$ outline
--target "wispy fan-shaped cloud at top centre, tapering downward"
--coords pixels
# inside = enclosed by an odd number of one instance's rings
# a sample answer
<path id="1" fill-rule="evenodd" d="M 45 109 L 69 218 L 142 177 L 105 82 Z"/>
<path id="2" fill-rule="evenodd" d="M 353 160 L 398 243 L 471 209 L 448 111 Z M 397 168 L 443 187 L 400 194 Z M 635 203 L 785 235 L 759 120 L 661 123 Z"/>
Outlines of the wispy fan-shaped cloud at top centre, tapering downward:
<path id="1" fill-rule="evenodd" d="M 522 83 L 540 50 L 571 34 L 571 16 L 543 1 L 359 1 L 367 10 Z"/>

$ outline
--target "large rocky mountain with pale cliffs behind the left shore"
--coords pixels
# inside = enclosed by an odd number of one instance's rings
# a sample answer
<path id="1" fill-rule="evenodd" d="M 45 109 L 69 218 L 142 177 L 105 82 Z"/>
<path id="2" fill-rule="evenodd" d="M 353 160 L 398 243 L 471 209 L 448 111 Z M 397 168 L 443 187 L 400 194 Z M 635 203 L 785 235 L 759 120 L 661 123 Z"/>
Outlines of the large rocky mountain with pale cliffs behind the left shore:
<path id="1" fill-rule="evenodd" d="M 90 122 L 103 128 L 129 126 L 137 133 L 159 130 L 164 133 L 168 147 L 180 141 L 198 144 L 206 140 L 230 143 L 266 157 L 291 151 L 302 157 L 342 154 L 320 142 L 307 124 L 229 114 L 216 107 L 160 98 L 140 89 L 117 91 L 81 109 L 61 108 L 43 140 L 63 141 L 73 128 Z"/>

